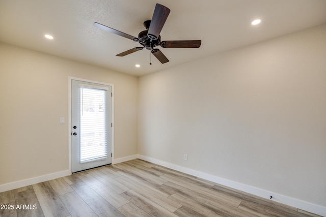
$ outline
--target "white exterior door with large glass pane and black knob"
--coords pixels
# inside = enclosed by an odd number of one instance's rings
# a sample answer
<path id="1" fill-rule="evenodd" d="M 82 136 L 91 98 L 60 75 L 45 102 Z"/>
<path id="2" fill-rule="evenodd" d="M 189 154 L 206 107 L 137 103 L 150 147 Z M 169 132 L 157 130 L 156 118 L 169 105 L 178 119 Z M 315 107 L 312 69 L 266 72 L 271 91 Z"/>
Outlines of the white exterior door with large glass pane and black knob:
<path id="1" fill-rule="evenodd" d="M 111 164 L 112 86 L 71 80 L 72 172 Z"/>

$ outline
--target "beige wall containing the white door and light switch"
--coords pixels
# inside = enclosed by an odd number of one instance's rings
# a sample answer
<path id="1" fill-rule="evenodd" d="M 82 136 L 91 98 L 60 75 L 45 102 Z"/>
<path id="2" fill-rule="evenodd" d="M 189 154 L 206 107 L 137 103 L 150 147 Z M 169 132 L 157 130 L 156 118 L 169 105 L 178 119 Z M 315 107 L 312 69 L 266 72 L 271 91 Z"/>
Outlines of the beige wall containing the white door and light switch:
<path id="1" fill-rule="evenodd" d="M 137 77 L 0 43 L 0 185 L 68 170 L 68 76 L 114 84 L 114 157 L 137 154 Z"/>

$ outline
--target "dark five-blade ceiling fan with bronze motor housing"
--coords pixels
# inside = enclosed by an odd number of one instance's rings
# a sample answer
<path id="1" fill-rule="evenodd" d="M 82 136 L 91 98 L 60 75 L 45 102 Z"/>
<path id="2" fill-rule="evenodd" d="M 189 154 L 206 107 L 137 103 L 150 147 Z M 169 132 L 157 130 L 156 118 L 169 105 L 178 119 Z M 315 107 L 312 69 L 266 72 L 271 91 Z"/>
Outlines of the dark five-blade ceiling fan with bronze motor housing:
<path id="1" fill-rule="evenodd" d="M 142 50 L 146 48 L 151 50 L 151 53 L 162 63 L 168 63 L 169 59 L 157 48 L 156 46 L 160 45 L 162 48 L 199 48 L 201 45 L 201 40 L 188 40 L 188 41 L 161 41 L 160 32 L 165 24 L 170 13 L 170 9 L 156 4 L 155 10 L 152 16 L 152 20 L 147 20 L 144 22 L 146 30 L 139 33 L 138 38 L 130 36 L 126 33 L 122 33 L 119 30 L 105 26 L 103 24 L 94 23 L 94 26 L 107 32 L 131 39 L 135 42 L 139 42 L 142 47 L 135 47 L 130 50 L 124 51 L 117 54 L 117 56 L 125 56 L 130 53 Z"/>

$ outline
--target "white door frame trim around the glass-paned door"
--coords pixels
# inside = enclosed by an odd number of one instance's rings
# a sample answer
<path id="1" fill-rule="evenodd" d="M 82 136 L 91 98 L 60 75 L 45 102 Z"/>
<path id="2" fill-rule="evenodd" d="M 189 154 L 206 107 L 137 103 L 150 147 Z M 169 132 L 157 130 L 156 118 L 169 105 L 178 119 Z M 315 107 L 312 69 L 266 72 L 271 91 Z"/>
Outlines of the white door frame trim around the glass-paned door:
<path id="1" fill-rule="evenodd" d="M 71 117 L 72 117 L 72 111 L 71 111 L 71 80 L 77 80 L 77 81 L 83 81 L 83 82 L 90 82 L 90 83 L 95 83 L 95 84 L 102 84 L 102 85 L 107 85 L 111 86 L 112 88 L 112 98 L 111 98 L 111 122 L 112 122 L 112 127 L 111 127 L 111 162 L 113 162 L 114 158 L 114 84 L 111 83 L 105 83 L 105 82 L 100 82 L 100 81 L 94 81 L 94 80 L 89 80 L 89 79 L 84 79 L 84 78 L 76 78 L 76 77 L 68 77 L 68 138 L 69 138 L 69 147 L 68 147 L 68 170 L 72 172 L 72 147 L 71 147 L 71 139 L 72 139 L 72 131 L 71 131 Z"/>

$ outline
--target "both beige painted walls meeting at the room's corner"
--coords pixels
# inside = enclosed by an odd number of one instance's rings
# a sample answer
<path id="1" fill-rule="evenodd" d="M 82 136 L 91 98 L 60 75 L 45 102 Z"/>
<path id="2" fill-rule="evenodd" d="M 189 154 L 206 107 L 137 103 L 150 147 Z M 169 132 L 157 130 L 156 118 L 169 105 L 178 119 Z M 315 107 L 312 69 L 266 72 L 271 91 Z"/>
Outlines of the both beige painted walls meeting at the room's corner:
<path id="1" fill-rule="evenodd" d="M 0 43 L 0 185 L 68 169 L 72 76 L 114 84 L 115 159 L 325 207 L 325 38 L 322 25 L 139 79 Z"/>

